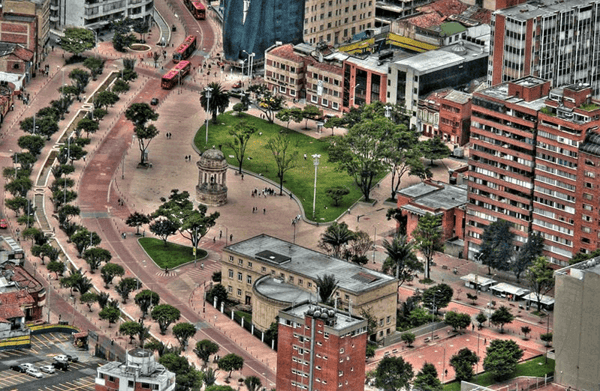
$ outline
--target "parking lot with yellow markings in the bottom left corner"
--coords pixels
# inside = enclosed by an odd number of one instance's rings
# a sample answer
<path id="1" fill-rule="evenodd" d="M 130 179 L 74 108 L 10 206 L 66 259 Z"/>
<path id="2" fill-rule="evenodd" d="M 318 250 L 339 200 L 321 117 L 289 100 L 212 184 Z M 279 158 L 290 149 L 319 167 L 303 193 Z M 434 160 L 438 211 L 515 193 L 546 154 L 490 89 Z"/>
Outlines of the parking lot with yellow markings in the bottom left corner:
<path id="1" fill-rule="evenodd" d="M 0 351 L 0 391 L 92 391 L 96 368 L 103 360 L 87 352 L 77 352 L 79 362 L 69 363 L 69 369 L 44 373 L 41 379 L 10 369 L 12 365 L 31 363 L 39 368 L 52 365 L 53 357 L 73 353 L 68 334 L 50 333 L 31 337 L 31 349 Z"/>

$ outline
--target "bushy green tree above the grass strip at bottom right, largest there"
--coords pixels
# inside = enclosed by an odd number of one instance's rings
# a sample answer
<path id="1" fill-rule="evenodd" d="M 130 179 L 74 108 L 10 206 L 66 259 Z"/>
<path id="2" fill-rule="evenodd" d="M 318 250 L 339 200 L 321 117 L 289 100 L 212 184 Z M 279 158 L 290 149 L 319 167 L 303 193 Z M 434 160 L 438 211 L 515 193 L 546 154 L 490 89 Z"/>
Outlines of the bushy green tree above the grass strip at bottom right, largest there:
<path id="1" fill-rule="evenodd" d="M 508 379 L 523 357 L 519 345 L 510 339 L 495 339 L 486 349 L 483 369 L 492 374 L 496 381 Z"/>

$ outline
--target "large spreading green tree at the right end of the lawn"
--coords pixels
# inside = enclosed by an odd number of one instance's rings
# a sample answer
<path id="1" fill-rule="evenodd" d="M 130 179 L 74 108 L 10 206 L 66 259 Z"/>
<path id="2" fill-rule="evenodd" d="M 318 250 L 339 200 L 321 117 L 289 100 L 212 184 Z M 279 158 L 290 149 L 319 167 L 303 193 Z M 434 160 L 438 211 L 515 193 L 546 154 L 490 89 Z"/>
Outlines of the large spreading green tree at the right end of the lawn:
<path id="1" fill-rule="evenodd" d="M 354 178 L 366 202 L 370 201 L 373 181 L 386 170 L 386 145 L 381 140 L 393 126 L 385 118 L 364 119 L 329 147 L 330 161 L 337 162 L 340 171 Z"/>

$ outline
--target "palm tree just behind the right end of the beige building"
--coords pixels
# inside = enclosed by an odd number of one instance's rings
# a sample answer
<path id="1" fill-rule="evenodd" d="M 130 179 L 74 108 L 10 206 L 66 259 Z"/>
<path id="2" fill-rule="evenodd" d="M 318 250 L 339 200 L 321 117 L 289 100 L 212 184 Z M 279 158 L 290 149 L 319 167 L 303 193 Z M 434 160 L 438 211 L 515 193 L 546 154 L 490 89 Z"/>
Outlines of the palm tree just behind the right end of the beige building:
<path id="1" fill-rule="evenodd" d="M 409 242 L 406 235 L 396 236 L 391 243 L 387 239 L 383 240 L 387 258 L 382 270 L 386 274 L 393 274 L 400 285 L 405 281 L 412 281 L 416 272 L 423 271 L 423 264 L 415 255 L 413 246 L 413 242 Z"/>

